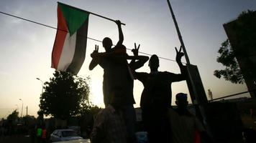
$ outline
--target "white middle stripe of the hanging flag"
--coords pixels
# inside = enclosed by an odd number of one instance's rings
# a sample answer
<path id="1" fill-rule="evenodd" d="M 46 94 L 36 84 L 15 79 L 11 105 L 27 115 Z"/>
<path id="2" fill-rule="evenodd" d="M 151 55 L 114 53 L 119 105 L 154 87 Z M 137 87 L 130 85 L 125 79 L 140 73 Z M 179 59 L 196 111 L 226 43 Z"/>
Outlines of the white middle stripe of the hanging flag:
<path id="1" fill-rule="evenodd" d="M 72 36 L 68 33 L 65 36 L 65 41 L 63 45 L 63 51 L 60 56 L 60 61 L 58 64 L 58 70 L 65 71 L 68 69 L 68 66 L 71 64 L 73 60 L 73 56 L 75 54 L 76 49 L 76 33 Z"/>

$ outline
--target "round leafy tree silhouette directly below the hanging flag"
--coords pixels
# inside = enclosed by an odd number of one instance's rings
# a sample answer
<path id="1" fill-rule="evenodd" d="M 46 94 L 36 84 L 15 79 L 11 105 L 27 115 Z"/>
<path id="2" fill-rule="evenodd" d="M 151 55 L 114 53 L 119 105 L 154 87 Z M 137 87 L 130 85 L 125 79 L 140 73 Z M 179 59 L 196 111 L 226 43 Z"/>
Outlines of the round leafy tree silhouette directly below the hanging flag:
<path id="1" fill-rule="evenodd" d="M 50 82 L 45 82 L 45 92 L 40 97 L 40 112 L 59 119 L 78 115 L 88 101 L 89 78 L 65 71 L 55 71 L 53 75 Z"/>

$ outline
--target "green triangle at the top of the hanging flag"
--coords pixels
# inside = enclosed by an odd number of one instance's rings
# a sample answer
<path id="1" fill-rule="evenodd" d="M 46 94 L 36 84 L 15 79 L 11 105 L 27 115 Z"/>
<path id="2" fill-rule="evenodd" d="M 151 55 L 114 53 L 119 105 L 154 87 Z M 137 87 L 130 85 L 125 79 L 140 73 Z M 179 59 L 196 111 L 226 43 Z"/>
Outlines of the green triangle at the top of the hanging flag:
<path id="1" fill-rule="evenodd" d="M 61 3 L 58 4 L 63 13 L 65 23 L 68 26 L 70 36 L 72 36 L 83 25 L 84 21 L 88 19 L 89 13 L 80 11 L 78 9 L 73 9 L 70 6 L 66 6 Z"/>

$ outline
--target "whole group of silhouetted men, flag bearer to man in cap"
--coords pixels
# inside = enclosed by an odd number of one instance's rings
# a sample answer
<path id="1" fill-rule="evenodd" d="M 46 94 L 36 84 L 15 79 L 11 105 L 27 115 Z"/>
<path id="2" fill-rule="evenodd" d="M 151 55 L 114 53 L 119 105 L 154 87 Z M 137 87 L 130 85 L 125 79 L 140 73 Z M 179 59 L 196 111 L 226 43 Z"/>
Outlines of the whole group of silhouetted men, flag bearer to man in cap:
<path id="1" fill-rule="evenodd" d="M 138 46 L 134 44 L 132 49 L 134 55 L 129 56 L 126 47 L 122 44 L 124 36 L 121 22 L 116 21 L 116 24 L 119 29 L 119 41 L 116 46 L 112 47 L 111 39 L 106 37 L 102 41 L 105 52 L 99 53 L 99 46 L 96 45 L 91 54 L 89 69 L 94 69 L 98 64 L 104 69 L 105 104 L 105 109 L 97 114 L 94 121 L 91 142 L 137 142 L 134 131 L 136 122 L 133 107 L 134 79 L 138 79 L 144 86 L 140 107 L 148 142 L 200 142 L 200 137 L 206 132 L 203 124 L 186 110 L 186 94 L 177 94 L 177 110 L 171 107 L 171 84 L 184 81 L 188 77 L 186 66 L 181 63 L 184 55 L 181 51 L 182 47 L 180 46 L 179 50 L 175 48 L 180 74 L 158 71 L 159 59 L 155 54 L 150 57 L 148 65 L 150 73 L 137 72 L 135 70 L 142 67 L 149 57 L 138 55 L 140 44 Z M 179 121 L 179 125 L 174 123 L 176 120 Z M 186 126 L 183 126 L 184 124 Z M 191 131 L 190 134 L 185 133 L 186 129 Z M 209 136 L 204 137 L 209 139 Z"/>

